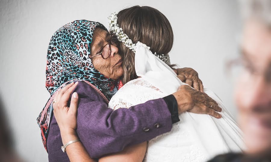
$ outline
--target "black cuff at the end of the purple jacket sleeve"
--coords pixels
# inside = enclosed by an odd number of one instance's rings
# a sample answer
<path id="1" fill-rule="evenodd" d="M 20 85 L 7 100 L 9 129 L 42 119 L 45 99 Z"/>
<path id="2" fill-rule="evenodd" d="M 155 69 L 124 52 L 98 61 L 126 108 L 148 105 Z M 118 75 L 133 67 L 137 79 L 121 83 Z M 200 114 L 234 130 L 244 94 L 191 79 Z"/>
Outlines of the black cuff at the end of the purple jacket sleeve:
<path id="1" fill-rule="evenodd" d="M 178 105 L 176 98 L 173 95 L 168 95 L 163 98 L 167 104 L 167 107 L 171 114 L 171 121 L 173 123 L 177 123 L 180 121 L 179 119 L 179 113 L 178 113 Z"/>

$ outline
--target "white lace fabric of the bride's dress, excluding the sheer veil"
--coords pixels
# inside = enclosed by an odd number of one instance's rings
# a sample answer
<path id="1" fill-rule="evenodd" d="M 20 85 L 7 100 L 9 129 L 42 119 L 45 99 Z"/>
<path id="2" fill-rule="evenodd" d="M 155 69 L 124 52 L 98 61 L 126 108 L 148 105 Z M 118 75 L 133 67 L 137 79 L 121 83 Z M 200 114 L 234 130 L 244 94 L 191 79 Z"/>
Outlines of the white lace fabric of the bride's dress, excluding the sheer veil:
<path id="1" fill-rule="evenodd" d="M 165 94 L 143 78 L 126 83 L 111 98 L 108 107 L 117 110 L 121 107 L 145 103 L 146 101 L 165 97 Z M 206 160 L 189 136 L 189 128 L 182 122 L 173 124 L 171 132 L 157 136 L 148 141 L 144 161 L 204 161 Z"/>

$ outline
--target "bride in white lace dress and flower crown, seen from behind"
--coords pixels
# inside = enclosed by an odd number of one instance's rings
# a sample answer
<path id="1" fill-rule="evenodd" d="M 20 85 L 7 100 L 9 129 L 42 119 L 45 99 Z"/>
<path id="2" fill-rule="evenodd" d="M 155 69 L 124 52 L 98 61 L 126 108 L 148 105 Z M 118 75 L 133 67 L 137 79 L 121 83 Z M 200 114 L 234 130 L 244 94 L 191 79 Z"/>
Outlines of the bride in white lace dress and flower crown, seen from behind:
<path id="1" fill-rule="evenodd" d="M 110 108 L 114 110 L 121 107 L 129 108 L 170 95 L 176 92 L 179 86 L 187 86 L 165 63 L 168 58 L 159 53 L 161 51 L 159 44 L 151 41 L 156 37 L 148 31 L 154 28 L 164 30 L 163 24 L 149 23 L 159 16 L 166 19 L 154 8 L 139 6 L 110 15 L 110 30 L 122 42 L 119 48 L 124 58 L 123 66 L 128 67 L 124 69 L 126 74 L 123 80 L 126 84 L 111 98 L 108 104 Z M 170 36 L 164 37 L 164 40 L 158 41 L 168 41 Z M 229 111 L 216 94 L 208 89 L 204 89 L 204 92 L 222 108 L 220 113 L 222 118 L 184 112 L 179 115 L 180 122 L 173 124 L 171 132 L 148 142 L 129 146 L 121 152 L 105 155 L 99 161 L 127 161 L 140 159 L 141 156 L 141 159 L 144 157 L 144 161 L 206 161 L 216 154 L 242 151 L 244 149 L 242 133 Z M 55 114 L 56 118 L 57 116 L 58 114 Z M 159 126 L 158 123 L 155 125 L 157 128 Z M 78 157 L 81 156 L 89 155 L 82 151 Z"/>

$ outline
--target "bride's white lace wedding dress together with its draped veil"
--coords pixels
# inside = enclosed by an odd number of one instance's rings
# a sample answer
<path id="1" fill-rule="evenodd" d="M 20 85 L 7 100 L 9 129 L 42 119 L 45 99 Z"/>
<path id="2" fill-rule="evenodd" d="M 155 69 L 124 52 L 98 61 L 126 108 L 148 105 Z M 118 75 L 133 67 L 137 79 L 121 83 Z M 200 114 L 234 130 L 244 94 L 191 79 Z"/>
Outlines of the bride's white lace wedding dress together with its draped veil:
<path id="1" fill-rule="evenodd" d="M 142 43 L 137 43 L 136 73 L 141 78 L 126 83 L 111 98 L 108 107 L 114 110 L 163 98 L 176 92 L 182 84 L 164 62 L 154 56 Z M 207 114 L 185 112 L 173 124 L 171 132 L 148 141 L 144 161 L 201 162 L 217 154 L 241 152 L 244 147 L 242 132 L 212 91 L 204 89 L 223 109 L 221 119 Z"/>

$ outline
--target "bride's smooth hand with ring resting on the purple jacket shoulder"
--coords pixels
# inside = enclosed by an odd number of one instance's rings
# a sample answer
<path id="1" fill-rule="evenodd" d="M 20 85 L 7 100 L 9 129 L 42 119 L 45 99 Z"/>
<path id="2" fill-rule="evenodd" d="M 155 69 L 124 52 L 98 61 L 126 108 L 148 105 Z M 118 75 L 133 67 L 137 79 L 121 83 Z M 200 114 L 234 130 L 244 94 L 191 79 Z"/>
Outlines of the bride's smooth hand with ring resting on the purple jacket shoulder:
<path id="1" fill-rule="evenodd" d="M 73 93 L 70 107 L 68 107 L 68 101 L 77 84 L 78 82 L 68 84 L 54 97 L 53 112 L 61 132 L 61 137 L 64 135 L 76 135 L 78 94 L 76 92 Z"/>

